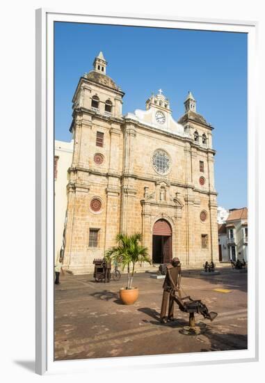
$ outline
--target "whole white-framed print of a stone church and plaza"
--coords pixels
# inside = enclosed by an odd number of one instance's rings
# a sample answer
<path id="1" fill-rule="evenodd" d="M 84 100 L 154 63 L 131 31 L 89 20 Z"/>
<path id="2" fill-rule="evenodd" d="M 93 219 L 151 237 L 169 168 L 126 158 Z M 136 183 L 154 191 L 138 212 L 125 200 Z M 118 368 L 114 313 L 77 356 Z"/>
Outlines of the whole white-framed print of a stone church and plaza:
<path id="1" fill-rule="evenodd" d="M 37 372 L 257 360 L 257 24 L 36 17 Z"/>

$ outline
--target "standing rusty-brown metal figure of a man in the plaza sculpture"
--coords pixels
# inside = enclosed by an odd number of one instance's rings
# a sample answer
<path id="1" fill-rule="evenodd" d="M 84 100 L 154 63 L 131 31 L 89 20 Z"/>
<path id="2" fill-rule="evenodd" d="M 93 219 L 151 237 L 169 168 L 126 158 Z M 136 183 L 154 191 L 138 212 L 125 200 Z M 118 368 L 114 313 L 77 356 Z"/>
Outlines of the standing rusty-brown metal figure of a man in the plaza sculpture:
<path id="1" fill-rule="evenodd" d="M 168 321 L 174 320 L 174 299 L 170 296 L 170 290 L 177 291 L 180 288 L 181 264 L 175 257 L 166 267 L 166 278 L 163 283 L 163 298 L 161 304 L 160 322 L 166 323 L 166 308 L 168 306 Z M 168 305 L 169 297 L 169 305 Z"/>

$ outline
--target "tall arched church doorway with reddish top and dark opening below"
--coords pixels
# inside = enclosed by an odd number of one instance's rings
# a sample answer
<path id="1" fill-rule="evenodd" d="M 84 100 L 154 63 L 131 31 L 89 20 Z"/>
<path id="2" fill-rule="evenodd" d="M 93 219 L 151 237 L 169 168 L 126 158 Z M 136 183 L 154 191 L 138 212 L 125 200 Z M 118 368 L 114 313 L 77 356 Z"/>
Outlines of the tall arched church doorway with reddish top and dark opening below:
<path id="1" fill-rule="evenodd" d="M 153 263 L 170 263 L 172 259 L 172 229 L 166 219 L 159 219 L 153 227 Z"/>

